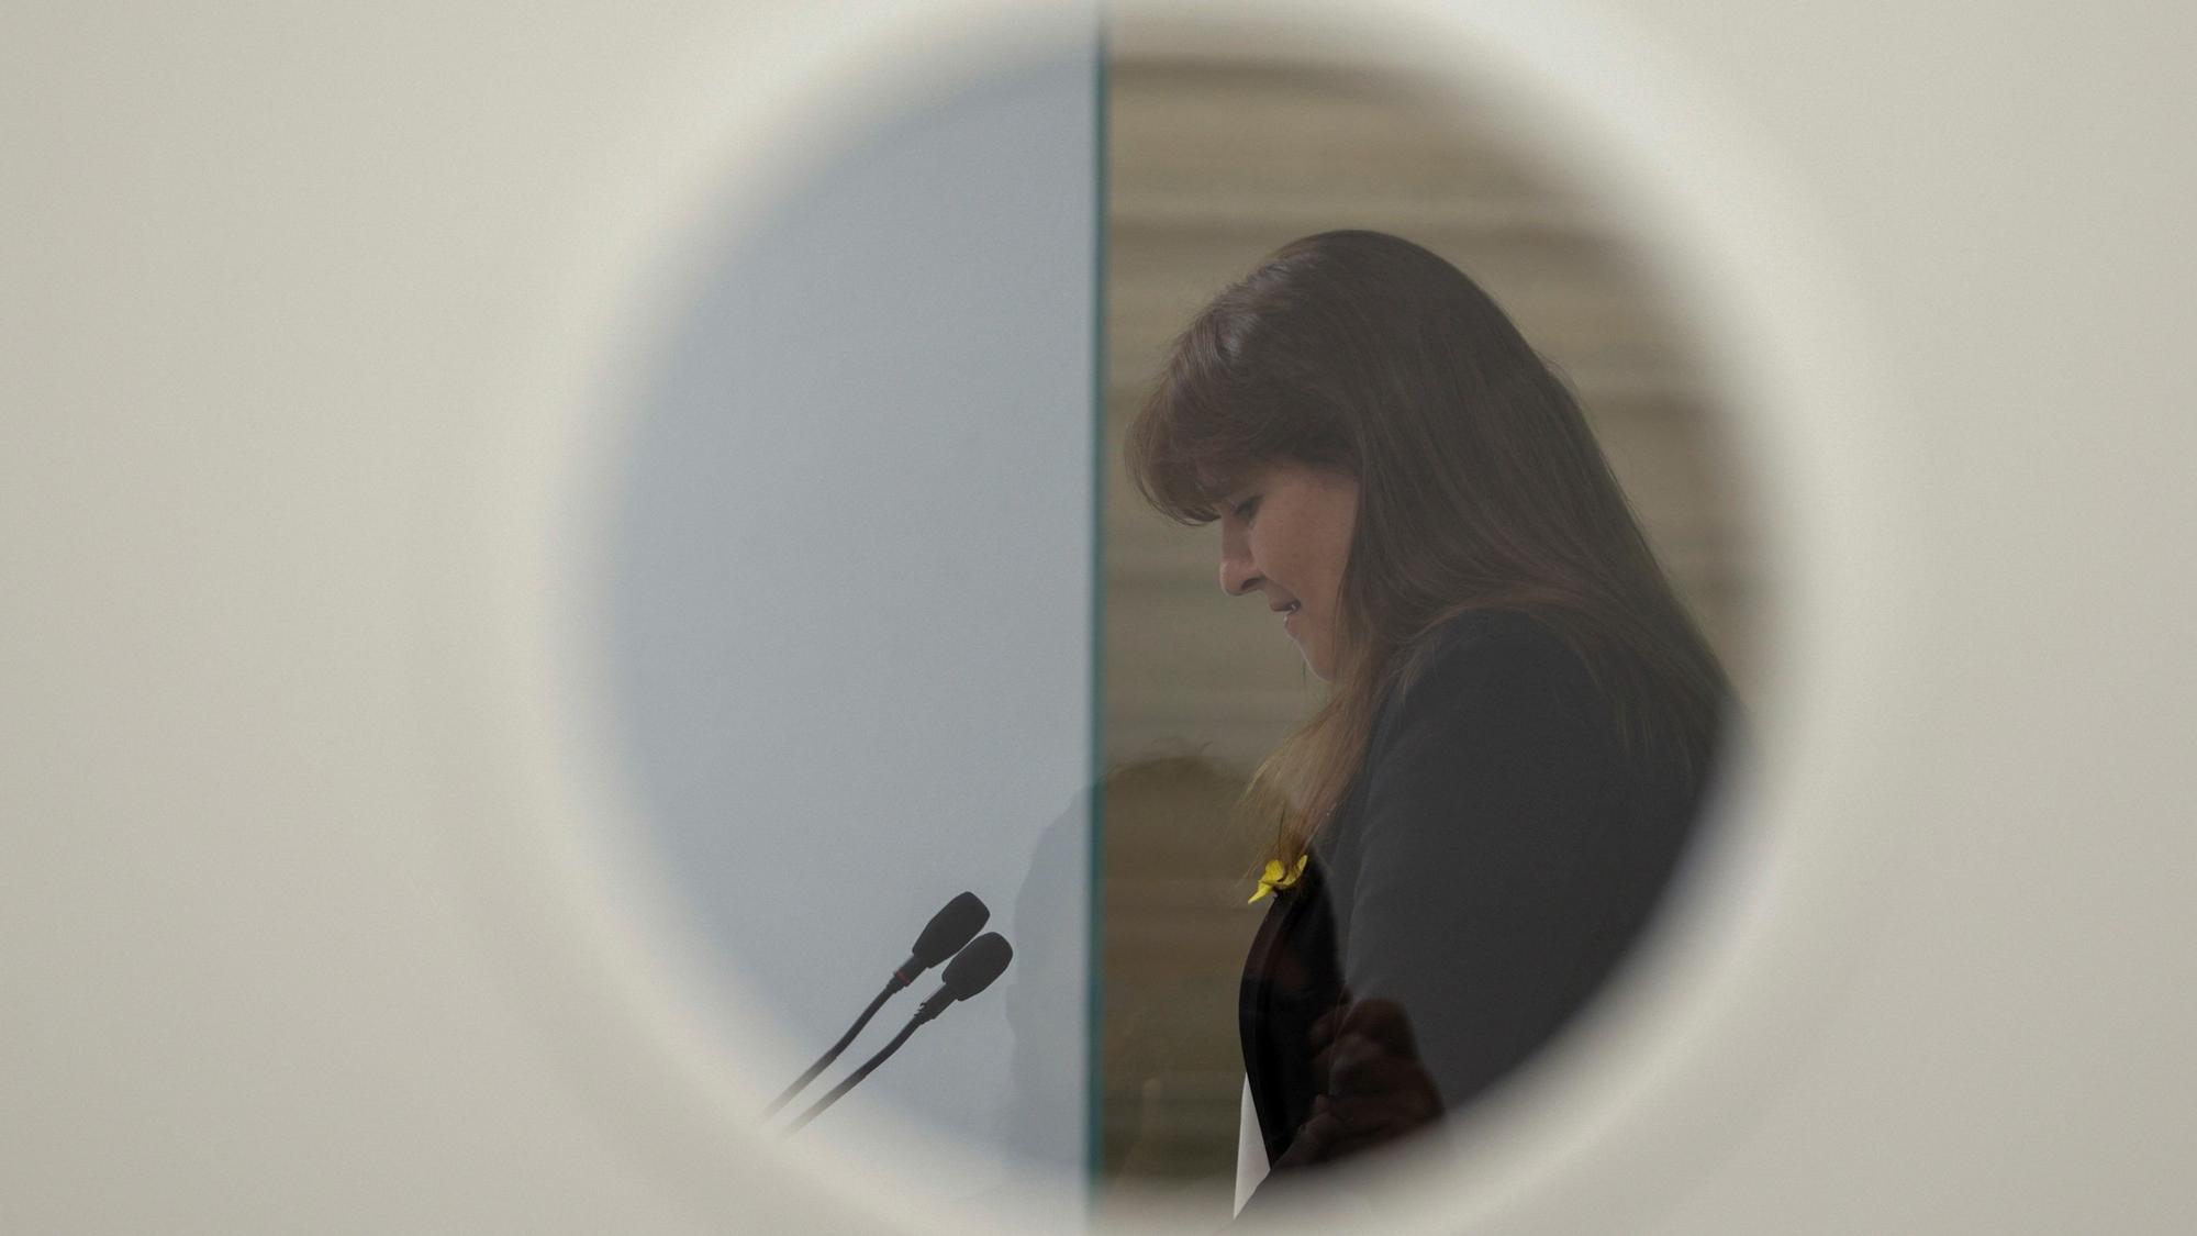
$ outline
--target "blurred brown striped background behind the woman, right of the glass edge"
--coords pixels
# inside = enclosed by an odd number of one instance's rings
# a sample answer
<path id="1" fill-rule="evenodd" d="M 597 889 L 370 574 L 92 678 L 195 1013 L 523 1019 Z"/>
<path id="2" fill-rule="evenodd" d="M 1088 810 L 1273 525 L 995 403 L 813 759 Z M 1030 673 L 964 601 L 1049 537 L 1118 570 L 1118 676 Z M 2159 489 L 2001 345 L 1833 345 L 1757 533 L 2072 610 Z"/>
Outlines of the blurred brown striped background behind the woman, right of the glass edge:
<path id="1" fill-rule="evenodd" d="M 1709 405 L 1624 220 L 1538 163 L 1529 132 L 1384 75 L 1153 44 L 1116 44 L 1107 108 L 1103 1163 L 1226 1218 L 1235 985 L 1259 919 L 1244 904 L 1259 838 L 1230 836 L 1226 814 L 1320 684 L 1265 605 L 1219 592 L 1217 534 L 1160 519 L 1123 473 L 1171 336 L 1298 235 L 1426 244 L 1569 376 L 1742 697 L 1753 592 L 1714 424 L 1733 409 Z"/>

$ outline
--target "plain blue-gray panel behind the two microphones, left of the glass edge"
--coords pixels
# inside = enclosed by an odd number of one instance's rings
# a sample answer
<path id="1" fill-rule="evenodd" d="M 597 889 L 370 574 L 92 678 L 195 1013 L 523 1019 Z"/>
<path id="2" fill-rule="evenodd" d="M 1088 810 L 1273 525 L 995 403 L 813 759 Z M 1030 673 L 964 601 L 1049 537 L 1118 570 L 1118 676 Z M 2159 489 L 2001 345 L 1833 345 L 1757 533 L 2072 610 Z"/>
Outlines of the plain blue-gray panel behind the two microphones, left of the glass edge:
<path id="1" fill-rule="evenodd" d="M 802 1135 L 940 1126 L 940 1196 L 1088 1159 L 1096 73 L 932 92 L 729 238 L 615 526 L 631 776 L 738 990 L 822 1051 L 949 895 L 1017 948 Z"/>

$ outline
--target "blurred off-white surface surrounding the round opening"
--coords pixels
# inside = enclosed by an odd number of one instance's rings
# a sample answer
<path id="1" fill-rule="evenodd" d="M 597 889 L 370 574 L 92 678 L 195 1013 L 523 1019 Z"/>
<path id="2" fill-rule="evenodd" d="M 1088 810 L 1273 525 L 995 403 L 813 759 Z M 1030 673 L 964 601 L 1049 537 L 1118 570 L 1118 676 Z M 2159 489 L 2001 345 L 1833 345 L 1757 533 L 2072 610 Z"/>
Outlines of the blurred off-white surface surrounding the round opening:
<path id="1" fill-rule="evenodd" d="M 663 238 L 905 86 L 949 9 L 13 22 L 0 1225 L 894 1212 L 747 1133 L 705 961 L 622 867 L 600 702 L 529 671 L 595 603 L 551 530 L 604 365 L 668 330 L 635 317 Z M 1775 396 L 1742 438 L 1786 561 L 1744 818 L 1661 983 L 1391 1196 L 1435 1229 L 2177 1229 L 2190 13 L 1410 11 L 1413 55 L 1569 103 L 1551 141 L 1606 145 L 1696 273 L 1733 389 Z"/>

